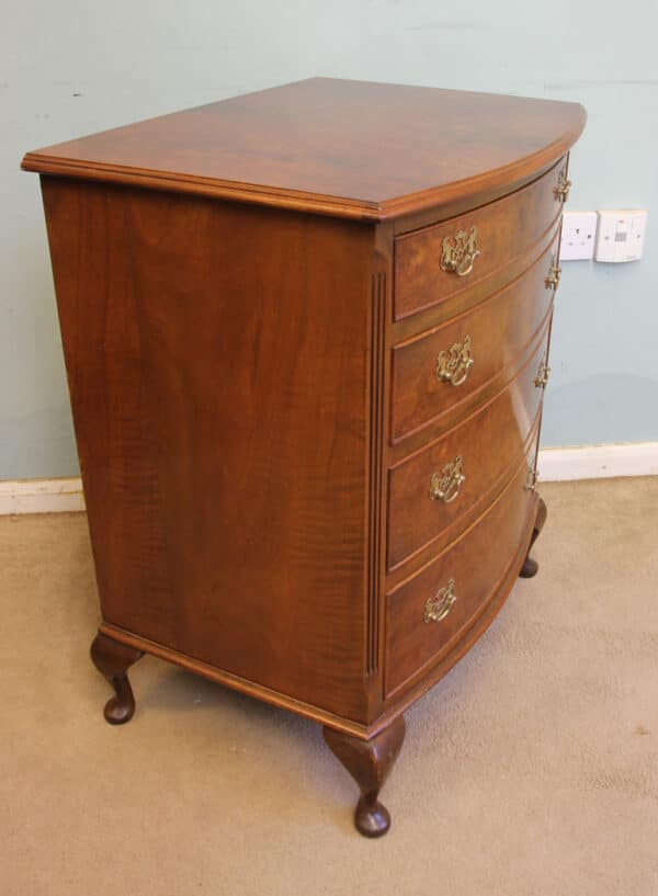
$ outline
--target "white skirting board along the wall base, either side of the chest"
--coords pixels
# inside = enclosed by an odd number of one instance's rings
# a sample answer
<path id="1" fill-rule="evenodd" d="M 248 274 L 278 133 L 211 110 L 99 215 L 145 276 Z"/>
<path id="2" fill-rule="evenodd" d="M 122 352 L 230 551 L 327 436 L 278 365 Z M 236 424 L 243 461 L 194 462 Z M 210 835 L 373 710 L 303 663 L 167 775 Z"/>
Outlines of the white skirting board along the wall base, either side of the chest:
<path id="1" fill-rule="evenodd" d="M 658 442 L 543 449 L 537 469 L 540 483 L 658 476 Z M 84 496 L 79 477 L 0 481 L 0 515 L 81 510 Z"/>

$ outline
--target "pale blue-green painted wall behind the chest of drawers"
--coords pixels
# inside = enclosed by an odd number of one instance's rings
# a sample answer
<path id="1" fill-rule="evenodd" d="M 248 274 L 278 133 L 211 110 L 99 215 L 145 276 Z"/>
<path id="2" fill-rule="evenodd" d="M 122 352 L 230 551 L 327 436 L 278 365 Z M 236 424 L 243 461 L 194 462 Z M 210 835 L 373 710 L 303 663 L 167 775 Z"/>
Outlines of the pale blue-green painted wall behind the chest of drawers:
<path id="1" fill-rule="evenodd" d="M 646 206 L 642 262 L 565 263 L 545 445 L 658 440 L 655 0 L 3 2 L 0 479 L 77 472 L 26 149 L 325 75 L 578 100 L 570 207 Z M 657 230 L 658 232 L 658 230 Z"/>

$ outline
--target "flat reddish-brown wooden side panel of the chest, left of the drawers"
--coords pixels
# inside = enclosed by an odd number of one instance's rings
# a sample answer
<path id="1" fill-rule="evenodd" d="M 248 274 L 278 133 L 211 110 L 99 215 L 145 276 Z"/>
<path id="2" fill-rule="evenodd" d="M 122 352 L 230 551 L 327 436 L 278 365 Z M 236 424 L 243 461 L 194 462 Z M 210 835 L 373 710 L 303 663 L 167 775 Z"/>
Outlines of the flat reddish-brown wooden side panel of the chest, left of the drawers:
<path id="1" fill-rule="evenodd" d="M 373 228 L 43 193 L 103 619 L 363 719 Z"/>

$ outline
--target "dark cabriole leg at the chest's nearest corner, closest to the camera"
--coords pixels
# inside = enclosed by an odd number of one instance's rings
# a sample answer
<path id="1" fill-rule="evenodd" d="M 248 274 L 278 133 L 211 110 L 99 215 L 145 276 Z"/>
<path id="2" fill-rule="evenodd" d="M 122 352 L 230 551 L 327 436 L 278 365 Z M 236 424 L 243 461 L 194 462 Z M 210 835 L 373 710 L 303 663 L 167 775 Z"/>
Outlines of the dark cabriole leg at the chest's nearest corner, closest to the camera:
<path id="1" fill-rule="evenodd" d="M 322 733 L 331 752 L 342 762 L 361 790 L 361 798 L 354 813 L 356 830 L 364 837 L 382 837 L 390 827 L 390 816 L 377 797 L 405 739 L 404 716 L 397 716 L 372 740 L 360 740 L 327 726 Z"/>

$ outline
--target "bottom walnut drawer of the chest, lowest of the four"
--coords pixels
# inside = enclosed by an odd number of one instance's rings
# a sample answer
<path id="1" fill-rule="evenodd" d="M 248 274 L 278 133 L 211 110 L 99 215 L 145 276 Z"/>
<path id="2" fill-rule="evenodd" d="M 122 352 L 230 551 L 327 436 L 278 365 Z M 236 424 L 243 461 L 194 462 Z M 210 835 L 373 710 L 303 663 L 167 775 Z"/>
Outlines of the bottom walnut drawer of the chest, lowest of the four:
<path id="1" fill-rule="evenodd" d="M 530 535 L 526 481 L 524 460 L 485 515 L 387 596 L 387 696 L 438 662 L 476 622 L 502 586 L 511 558 L 521 565 L 518 555 Z"/>

